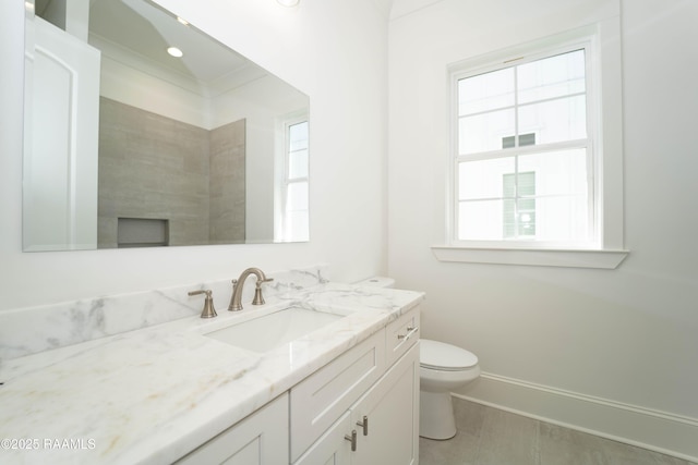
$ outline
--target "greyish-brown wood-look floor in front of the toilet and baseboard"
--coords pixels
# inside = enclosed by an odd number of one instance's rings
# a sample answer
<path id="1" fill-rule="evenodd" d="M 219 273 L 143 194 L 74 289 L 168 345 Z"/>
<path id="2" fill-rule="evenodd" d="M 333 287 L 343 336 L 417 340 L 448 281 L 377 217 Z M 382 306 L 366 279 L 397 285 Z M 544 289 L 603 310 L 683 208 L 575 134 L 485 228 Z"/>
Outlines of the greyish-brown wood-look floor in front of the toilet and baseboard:
<path id="1" fill-rule="evenodd" d="M 420 465 L 698 465 L 454 397 L 458 433 L 420 438 Z"/>

